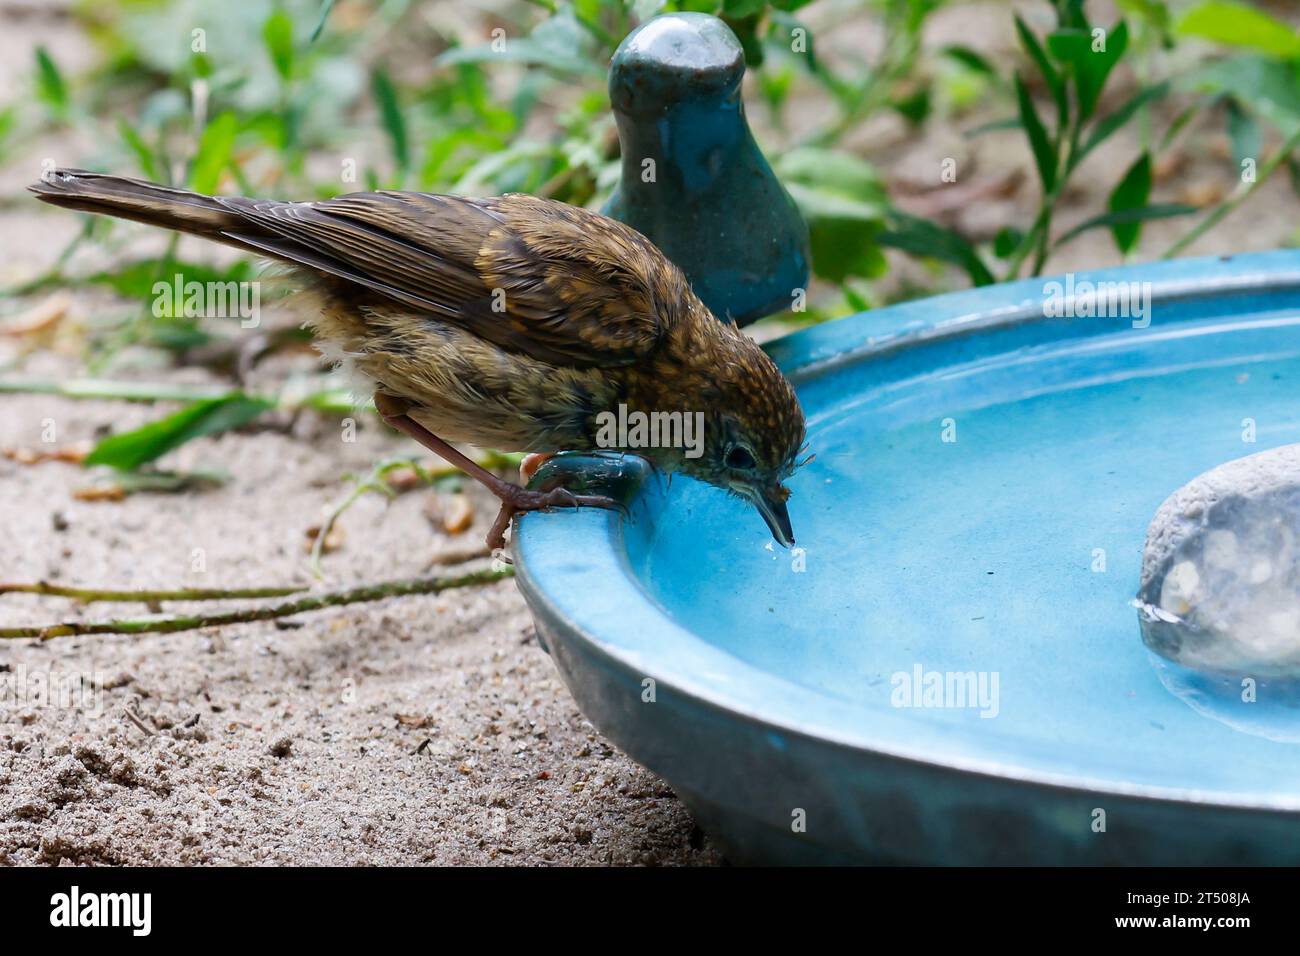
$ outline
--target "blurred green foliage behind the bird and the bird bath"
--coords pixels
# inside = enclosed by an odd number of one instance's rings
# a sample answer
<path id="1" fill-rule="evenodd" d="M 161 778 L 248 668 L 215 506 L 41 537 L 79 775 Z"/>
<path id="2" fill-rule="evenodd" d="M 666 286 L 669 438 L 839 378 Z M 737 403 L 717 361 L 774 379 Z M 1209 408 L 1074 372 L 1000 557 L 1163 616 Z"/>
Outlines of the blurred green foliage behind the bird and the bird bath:
<path id="1" fill-rule="evenodd" d="M 810 222 L 809 307 L 759 336 L 967 284 L 1300 239 L 1294 3 L 74 0 L 0 8 L 30 36 L 0 99 L 0 319 L 26 328 L 42 295 L 98 289 L 127 304 L 79 328 L 90 375 L 203 364 L 243 386 L 302 333 L 150 303 L 160 278 L 242 281 L 251 261 L 38 211 L 21 185 L 58 164 L 287 199 L 526 191 L 598 208 L 619 173 L 610 56 L 673 10 L 740 36 L 750 122 Z M 75 34 L 79 55 L 47 34 Z M 20 238 L 56 216 L 75 233 Z M 346 406 L 315 380 L 285 388 Z M 222 427 L 260 411 L 231 394 L 209 410 Z"/>

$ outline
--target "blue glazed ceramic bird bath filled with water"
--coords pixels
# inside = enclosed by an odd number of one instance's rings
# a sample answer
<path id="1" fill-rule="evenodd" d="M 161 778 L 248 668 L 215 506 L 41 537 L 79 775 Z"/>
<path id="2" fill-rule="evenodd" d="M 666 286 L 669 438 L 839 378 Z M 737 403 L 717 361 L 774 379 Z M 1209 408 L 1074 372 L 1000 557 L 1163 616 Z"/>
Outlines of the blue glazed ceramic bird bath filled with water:
<path id="1" fill-rule="evenodd" d="M 1300 862 L 1300 709 L 1173 672 L 1131 606 L 1175 488 L 1300 441 L 1300 252 L 1050 282 L 771 346 L 803 550 L 636 459 L 547 466 L 630 518 L 520 522 L 542 640 L 731 858 Z M 1145 319 L 1079 315 L 1097 282 L 1149 282 Z"/>

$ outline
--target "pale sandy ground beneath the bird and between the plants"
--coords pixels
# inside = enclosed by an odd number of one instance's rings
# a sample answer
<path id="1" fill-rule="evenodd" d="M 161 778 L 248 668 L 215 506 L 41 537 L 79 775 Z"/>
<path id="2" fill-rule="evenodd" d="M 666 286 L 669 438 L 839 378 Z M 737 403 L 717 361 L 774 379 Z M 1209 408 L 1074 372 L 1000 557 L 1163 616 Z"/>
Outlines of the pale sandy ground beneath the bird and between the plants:
<path id="1" fill-rule="evenodd" d="M 1009 40 L 1005 9 L 982 7 L 987 10 L 979 16 L 963 5 L 936 17 L 930 42 L 959 39 L 1005 59 L 998 46 Z M 27 74 L 34 42 L 49 44 L 69 68 L 87 59 L 84 40 L 57 9 L 0 4 L 0 17 L 14 26 L 0 30 L 4 88 Z M 849 29 L 829 39 L 854 46 Z M 965 140 L 958 129 L 936 125 L 928 139 L 915 139 L 885 117 L 862 138 L 896 144 L 872 153 L 893 182 L 924 183 L 945 156 L 974 170 L 972 179 L 1028 170 L 1023 143 L 1008 134 Z M 1132 142 L 1117 139 L 1089 159 L 1062 228 L 1104 203 L 1132 151 Z M 73 217 L 17 196 L 42 157 L 75 161 L 77 155 L 77 143 L 36 143 L 0 170 L 0 282 L 47 268 L 75 230 Z M 1231 187 L 1222 135 L 1188 156 L 1162 170 L 1158 199 Z M 1010 195 L 931 212 L 972 235 L 991 235 L 1028 219 L 1031 174 L 1027 182 Z M 1249 211 L 1192 252 L 1284 245 L 1295 208 L 1288 187 L 1270 183 Z M 1139 258 L 1158 255 L 1182 230 L 1154 224 Z M 156 239 L 144 232 L 124 235 L 133 237 L 131 255 L 155 250 Z M 183 254 L 209 255 L 202 246 Z M 896 261 L 901 274 L 923 274 L 913 263 Z M 1097 233 L 1053 258 L 1049 271 L 1115 261 L 1109 238 Z M 135 306 L 78 293 L 69 320 L 129 307 Z M 84 373 L 74 356 L 23 350 L 25 343 L 0 338 L 0 368 L 18 362 L 32 377 Z M 312 365 L 303 356 L 286 362 L 261 369 L 264 378 L 254 385 Z M 217 381 L 195 369 L 114 373 Z M 166 408 L 5 395 L 0 447 L 46 450 L 42 437 L 51 427 L 56 446 L 70 446 Z M 313 581 L 306 532 L 346 492 L 344 473 L 413 449 L 373 419 L 360 419 L 355 442 L 342 440 L 337 418 L 303 414 L 270 424 L 200 440 L 165 459 L 169 467 L 217 466 L 233 476 L 203 493 L 79 501 L 74 492 L 90 480 L 83 470 L 0 458 L 0 580 L 341 587 L 419 575 L 437 555 L 481 541 L 493 509 L 477 489 L 469 489 L 474 524 L 458 536 L 425 516 L 430 496 L 445 499 L 446 493 L 368 496 L 341 522 L 343 541 L 325 558 L 326 581 Z M 61 598 L 0 597 L 0 626 L 140 613 L 139 606 L 79 609 Z M 667 784 L 616 752 L 577 711 L 538 646 L 514 583 L 312 613 L 290 624 L 3 643 L 0 862 L 720 862 Z M 103 691 L 72 706 L 43 702 L 35 698 L 36 675 Z"/>

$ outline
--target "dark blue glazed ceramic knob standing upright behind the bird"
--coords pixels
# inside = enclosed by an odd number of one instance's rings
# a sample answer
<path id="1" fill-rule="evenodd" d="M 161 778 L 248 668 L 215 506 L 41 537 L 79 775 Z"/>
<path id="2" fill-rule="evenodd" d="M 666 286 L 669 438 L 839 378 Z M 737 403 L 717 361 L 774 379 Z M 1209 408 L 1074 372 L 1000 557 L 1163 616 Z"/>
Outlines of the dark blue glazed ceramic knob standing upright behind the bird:
<path id="1" fill-rule="evenodd" d="M 619 44 L 610 100 L 621 181 L 603 212 L 647 237 L 719 319 L 789 308 L 809 232 L 745 120 L 745 53 L 716 17 L 655 17 Z"/>

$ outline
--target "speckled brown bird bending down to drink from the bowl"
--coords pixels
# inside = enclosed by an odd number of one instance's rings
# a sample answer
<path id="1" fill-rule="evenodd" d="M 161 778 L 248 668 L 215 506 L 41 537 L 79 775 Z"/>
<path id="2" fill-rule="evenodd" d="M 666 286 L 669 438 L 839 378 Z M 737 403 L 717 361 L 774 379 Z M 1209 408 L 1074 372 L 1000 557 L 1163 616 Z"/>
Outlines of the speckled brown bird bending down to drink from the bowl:
<path id="1" fill-rule="evenodd" d="M 749 499 L 780 544 L 794 544 L 783 484 L 802 464 L 794 390 L 753 339 L 715 319 L 681 271 L 621 222 L 519 194 L 381 191 L 291 203 L 77 169 L 57 169 L 29 189 L 55 206 L 286 263 L 308 297 L 321 352 L 373 388 L 393 427 L 500 499 L 488 535 L 493 549 L 504 546 L 517 512 L 619 505 L 520 488 L 448 442 L 629 451 Z M 636 429 L 610 428 L 620 411 L 624 421 L 637 412 L 642 420 L 689 415 L 703 423 L 702 440 L 646 446 Z"/>

